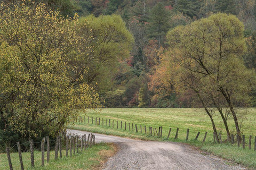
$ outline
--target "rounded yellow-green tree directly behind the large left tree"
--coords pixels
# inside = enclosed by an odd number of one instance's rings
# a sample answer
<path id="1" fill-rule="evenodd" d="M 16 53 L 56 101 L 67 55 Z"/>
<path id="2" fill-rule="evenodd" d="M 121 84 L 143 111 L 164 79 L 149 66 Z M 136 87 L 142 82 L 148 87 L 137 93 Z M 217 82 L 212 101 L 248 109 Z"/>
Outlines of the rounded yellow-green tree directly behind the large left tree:
<path id="1" fill-rule="evenodd" d="M 134 39 L 125 28 L 121 16 L 115 14 L 81 18 L 77 28 L 78 35 L 88 44 L 79 49 L 81 60 L 77 62 L 83 80 L 74 81 L 97 83 L 99 90 L 108 90 L 119 62 L 130 56 Z M 81 40 L 81 44 L 84 40 Z M 85 67 L 88 69 L 84 69 Z"/>

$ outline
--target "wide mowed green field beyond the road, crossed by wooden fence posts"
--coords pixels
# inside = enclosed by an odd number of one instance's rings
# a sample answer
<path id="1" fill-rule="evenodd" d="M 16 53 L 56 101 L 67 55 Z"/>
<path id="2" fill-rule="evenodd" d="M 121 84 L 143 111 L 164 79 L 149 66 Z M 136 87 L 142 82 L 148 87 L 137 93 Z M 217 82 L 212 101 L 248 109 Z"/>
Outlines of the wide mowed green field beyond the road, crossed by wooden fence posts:
<path id="1" fill-rule="evenodd" d="M 210 118 L 202 108 L 103 108 L 96 110 L 81 111 L 79 115 L 82 116 L 83 122 L 75 122 L 74 125 L 69 125 L 69 128 L 98 132 L 104 134 L 118 135 L 121 137 L 129 137 L 143 140 L 158 140 L 158 141 L 178 141 L 190 143 L 190 145 L 197 146 L 203 150 L 212 152 L 223 158 L 234 160 L 237 163 L 245 166 L 256 167 L 256 151 L 254 151 L 254 136 L 256 136 L 256 109 L 255 108 L 241 108 L 238 109 L 238 116 L 241 117 L 242 132 L 245 135 L 246 148 L 238 148 L 236 144 L 230 145 L 226 142 L 227 135 L 225 127 L 222 125 L 221 117 L 218 114 L 214 115 L 215 125 L 218 133 L 222 135 L 222 145 L 215 145 L 213 142 L 213 130 Z M 88 123 L 87 117 L 90 117 Z M 92 124 L 93 117 L 93 124 Z M 95 118 L 101 118 L 100 125 L 95 125 Z M 84 122 L 85 118 L 85 122 Z M 102 118 L 104 124 L 102 125 Z M 107 124 L 106 124 L 107 119 Z M 109 127 L 110 119 L 110 127 Z M 114 128 L 113 128 L 114 120 Z M 116 128 L 116 121 L 118 121 L 118 129 Z M 121 129 L 121 121 L 123 122 Z M 124 130 L 126 122 L 126 131 Z M 129 131 L 129 123 L 131 131 Z M 132 123 L 133 131 L 132 131 Z M 138 127 L 138 133 L 135 132 L 135 124 Z M 140 132 L 140 125 L 142 125 L 142 133 Z M 145 127 L 147 133 L 145 134 Z M 232 118 L 228 120 L 230 132 L 235 134 L 235 126 Z M 163 137 L 157 138 L 149 135 L 149 126 L 158 130 L 159 126 L 163 126 Z M 167 139 L 169 129 L 172 128 L 170 138 Z M 179 128 L 178 140 L 174 140 L 177 128 Z M 187 129 L 189 129 L 189 140 L 186 141 Z M 198 132 L 199 137 L 195 141 Z M 205 132 L 208 132 L 206 142 L 202 143 Z M 248 149 L 249 135 L 252 135 L 252 150 Z M 236 139 L 236 138 L 235 138 Z M 239 156 L 241 155 L 241 156 Z"/>

